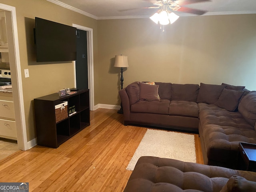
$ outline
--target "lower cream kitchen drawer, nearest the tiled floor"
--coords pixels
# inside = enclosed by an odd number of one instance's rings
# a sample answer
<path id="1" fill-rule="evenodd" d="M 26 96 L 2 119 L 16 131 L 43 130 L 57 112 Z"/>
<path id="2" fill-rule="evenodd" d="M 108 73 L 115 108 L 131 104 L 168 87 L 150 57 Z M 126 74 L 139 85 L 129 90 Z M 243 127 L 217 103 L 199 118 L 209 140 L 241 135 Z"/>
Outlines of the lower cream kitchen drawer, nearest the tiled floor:
<path id="1" fill-rule="evenodd" d="M 16 122 L 0 119 L 0 137 L 17 138 Z"/>

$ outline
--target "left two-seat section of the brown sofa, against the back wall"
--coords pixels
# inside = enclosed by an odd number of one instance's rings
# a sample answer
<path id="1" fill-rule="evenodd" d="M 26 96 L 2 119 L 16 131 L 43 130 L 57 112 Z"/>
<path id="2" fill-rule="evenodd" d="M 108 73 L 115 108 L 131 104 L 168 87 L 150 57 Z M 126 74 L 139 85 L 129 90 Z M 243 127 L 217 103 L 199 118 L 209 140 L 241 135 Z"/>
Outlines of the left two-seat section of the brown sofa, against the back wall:
<path id="1" fill-rule="evenodd" d="M 124 124 L 198 132 L 199 109 L 196 99 L 199 85 L 161 82 L 155 84 L 158 86 L 160 100 L 140 99 L 140 87 L 144 84 L 140 84 L 140 86 L 138 82 L 120 90 Z"/>

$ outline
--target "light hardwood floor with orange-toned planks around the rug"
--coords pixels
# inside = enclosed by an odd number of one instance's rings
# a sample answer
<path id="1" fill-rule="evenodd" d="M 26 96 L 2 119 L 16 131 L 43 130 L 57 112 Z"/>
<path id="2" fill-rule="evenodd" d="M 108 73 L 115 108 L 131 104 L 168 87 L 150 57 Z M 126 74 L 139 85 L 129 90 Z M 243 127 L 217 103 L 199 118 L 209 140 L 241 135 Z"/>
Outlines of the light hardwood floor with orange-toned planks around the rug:
<path id="1" fill-rule="evenodd" d="M 29 182 L 30 192 L 122 192 L 146 128 L 124 126 L 117 110 L 91 111 L 91 125 L 57 149 L 35 146 L 0 161 L 0 182 Z M 195 136 L 197 162 L 203 163 Z"/>

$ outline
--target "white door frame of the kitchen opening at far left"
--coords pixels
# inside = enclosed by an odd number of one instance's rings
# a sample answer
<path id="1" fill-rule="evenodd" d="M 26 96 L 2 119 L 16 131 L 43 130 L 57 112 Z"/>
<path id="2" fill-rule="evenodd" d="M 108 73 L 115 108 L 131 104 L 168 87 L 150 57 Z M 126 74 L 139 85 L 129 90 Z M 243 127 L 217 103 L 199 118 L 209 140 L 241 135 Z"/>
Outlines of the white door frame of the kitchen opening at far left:
<path id="1" fill-rule="evenodd" d="M 18 45 L 18 30 L 15 7 L 0 4 L 0 9 L 6 14 L 6 30 L 8 35 L 8 53 L 10 70 L 12 73 L 12 95 L 14 101 L 15 122 L 17 128 L 18 148 L 28 150 L 28 140 L 26 134 L 25 110 L 22 90 L 22 78 L 20 69 L 20 51 Z"/>

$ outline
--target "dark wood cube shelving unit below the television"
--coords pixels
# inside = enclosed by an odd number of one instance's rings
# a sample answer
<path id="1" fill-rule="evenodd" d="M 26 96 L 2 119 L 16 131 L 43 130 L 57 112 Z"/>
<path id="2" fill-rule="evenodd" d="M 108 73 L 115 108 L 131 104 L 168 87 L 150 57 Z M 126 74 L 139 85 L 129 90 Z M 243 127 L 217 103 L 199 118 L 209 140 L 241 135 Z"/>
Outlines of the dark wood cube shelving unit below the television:
<path id="1" fill-rule="evenodd" d="M 68 102 L 65 110 L 75 107 L 75 114 L 56 122 L 55 106 Z M 58 93 L 34 99 L 37 143 L 40 146 L 58 148 L 60 144 L 90 125 L 89 90 L 59 96 Z"/>

